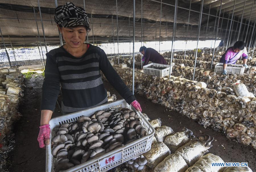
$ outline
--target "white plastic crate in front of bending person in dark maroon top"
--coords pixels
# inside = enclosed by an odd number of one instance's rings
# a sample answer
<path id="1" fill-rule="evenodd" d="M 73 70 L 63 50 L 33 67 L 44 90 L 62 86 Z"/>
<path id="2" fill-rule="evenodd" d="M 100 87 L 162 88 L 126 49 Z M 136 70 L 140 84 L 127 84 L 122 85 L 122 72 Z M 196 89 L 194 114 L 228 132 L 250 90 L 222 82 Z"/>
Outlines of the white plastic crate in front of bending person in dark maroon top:
<path id="1" fill-rule="evenodd" d="M 159 67 L 167 67 L 165 69 L 154 69 L 154 68 L 148 68 L 149 66 L 159 66 Z M 170 71 L 172 73 L 172 67 L 170 65 L 163 65 L 159 63 L 150 63 L 148 65 L 143 66 L 144 74 L 158 76 L 158 77 L 165 77 L 170 74 Z"/>

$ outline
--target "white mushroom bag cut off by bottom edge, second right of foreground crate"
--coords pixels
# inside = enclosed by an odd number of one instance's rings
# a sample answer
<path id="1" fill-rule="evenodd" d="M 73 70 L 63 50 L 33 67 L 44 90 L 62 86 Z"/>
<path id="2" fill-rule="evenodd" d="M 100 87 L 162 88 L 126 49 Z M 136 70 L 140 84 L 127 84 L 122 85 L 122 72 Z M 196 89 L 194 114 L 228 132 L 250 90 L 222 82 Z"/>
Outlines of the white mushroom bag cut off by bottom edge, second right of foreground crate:
<path id="1" fill-rule="evenodd" d="M 154 169 L 154 172 L 184 172 L 188 168 L 187 163 L 179 154 L 170 154 Z"/>

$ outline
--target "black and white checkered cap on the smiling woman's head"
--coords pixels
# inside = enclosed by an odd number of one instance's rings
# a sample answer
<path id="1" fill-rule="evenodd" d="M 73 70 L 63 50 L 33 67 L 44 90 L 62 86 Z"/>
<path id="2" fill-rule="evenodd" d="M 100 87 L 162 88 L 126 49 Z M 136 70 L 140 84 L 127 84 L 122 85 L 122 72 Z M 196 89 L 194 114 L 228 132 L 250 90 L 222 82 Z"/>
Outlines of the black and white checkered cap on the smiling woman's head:
<path id="1" fill-rule="evenodd" d="M 90 30 L 89 18 L 86 10 L 82 7 L 77 7 L 71 2 L 55 8 L 54 21 L 62 27 L 76 27 L 84 25 Z"/>

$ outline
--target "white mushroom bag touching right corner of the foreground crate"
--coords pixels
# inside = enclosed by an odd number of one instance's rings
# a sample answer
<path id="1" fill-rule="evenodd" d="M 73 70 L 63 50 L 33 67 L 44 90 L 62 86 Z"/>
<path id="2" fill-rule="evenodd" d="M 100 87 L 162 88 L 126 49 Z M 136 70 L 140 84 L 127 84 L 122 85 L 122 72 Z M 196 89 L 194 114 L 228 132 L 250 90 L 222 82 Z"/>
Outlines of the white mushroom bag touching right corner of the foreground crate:
<path id="1" fill-rule="evenodd" d="M 164 158 L 170 155 L 170 153 L 171 151 L 163 142 L 156 142 L 143 156 L 148 161 L 148 165 L 153 169 L 157 164 L 162 162 Z"/>

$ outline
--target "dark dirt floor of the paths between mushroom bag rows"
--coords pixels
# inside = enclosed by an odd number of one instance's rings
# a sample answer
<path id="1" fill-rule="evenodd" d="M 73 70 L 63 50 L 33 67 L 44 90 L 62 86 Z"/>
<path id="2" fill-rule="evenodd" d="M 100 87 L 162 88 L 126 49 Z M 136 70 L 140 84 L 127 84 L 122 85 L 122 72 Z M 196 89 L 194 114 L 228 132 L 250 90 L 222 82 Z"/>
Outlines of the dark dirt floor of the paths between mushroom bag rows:
<path id="1" fill-rule="evenodd" d="M 40 149 L 37 136 L 40 126 L 40 101 L 43 77 L 35 75 L 26 80 L 26 92 L 24 101 L 20 105 L 20 121 L 14 126 L 15 149 L 10 159 L 12 165 L 9 171 L 45 171 L 46 151 Z M 116 94 L 117 99 L 121 96 L 108 83 L 104 82 L 105 87 L 111 94 Z M 182 127 L 187 127 L 193 131 L 195 136 L 208 134 L 214 137 L 213 147 L 209 149 L 210 153 L 220 156 L 224 162 L 248 162 L 249 167 L 256 171 L 256 149 L 250 146 L 244 146 L 236 141 L 231 141 L 223 134 L 216 133 L 211 129 L 205 129 L 197 122 L 189 119 L 175 111 L 170 111 L 164 106 L 154 104 L 142 96 L 135 95 L 141 104 L 143 113 L 146 113 L 150 119 L 161 118 L 162 125 L 170 126 L 175 132 L 181 131 Z M 53 117 L 61 115 L 58 106 L 56 106 Z"/>

